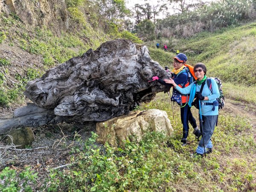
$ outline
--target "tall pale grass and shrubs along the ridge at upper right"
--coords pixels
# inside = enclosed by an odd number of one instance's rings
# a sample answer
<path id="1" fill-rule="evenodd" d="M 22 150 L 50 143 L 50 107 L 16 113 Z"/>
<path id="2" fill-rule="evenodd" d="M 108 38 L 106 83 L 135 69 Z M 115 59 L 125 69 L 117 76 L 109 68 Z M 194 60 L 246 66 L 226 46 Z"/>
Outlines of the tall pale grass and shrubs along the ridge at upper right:
<path id="1" fill-rule="evenodd" d="M 147 34 L 152 34 L 149 41 L 172 39 L 174 36 L 188 38 L 198 32 L 215 32 L 227 26 L 239 26 L 241 23 L 256 19 L 255 0 L 218 0 L 211 3 L 193 3 L 188 0 L 168 1 L 178 5 L 180 9 L 174 9 L 179 13 L 167 15 L 166 18 L 159 19 L 157 22 L 154 17 L 154 10 L 157 7 L 151 7 L 148 3 L 137 4 L 134 18 L 136 18 L 135 29 L 140 38 L 145 38 Z M 144 16 L 148 22 L 154 18 L 154 23 L 151 22 L 152 27 L 148 30 L 146 29 L 148 23 L 142 21 Z M 152 31 L 153 27 L 155 31 Z"/>

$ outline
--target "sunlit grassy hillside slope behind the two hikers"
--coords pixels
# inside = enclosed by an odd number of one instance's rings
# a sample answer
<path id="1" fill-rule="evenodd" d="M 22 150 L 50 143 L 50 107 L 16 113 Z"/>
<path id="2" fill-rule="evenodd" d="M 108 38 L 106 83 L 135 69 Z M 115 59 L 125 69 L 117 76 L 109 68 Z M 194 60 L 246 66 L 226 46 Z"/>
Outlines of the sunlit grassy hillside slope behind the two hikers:
<path id="1" fill-rule="evenodd" d="M 256 23 L 176 41 L 179 43 L 170 48 L 186 53 L 189 64 L 206 64 L 207 75 L 223 81 L 225 95 L 256 104 Z M 162 66 L 170 66 L 175 55 L 154 47 L 150 52 Z"/>

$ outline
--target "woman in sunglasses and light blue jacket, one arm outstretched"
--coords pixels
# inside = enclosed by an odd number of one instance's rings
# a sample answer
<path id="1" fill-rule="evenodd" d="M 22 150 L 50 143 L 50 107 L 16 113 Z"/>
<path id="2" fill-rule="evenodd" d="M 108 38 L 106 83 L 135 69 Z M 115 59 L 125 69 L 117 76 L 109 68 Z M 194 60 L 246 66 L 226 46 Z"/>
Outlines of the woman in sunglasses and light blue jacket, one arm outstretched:
<path id="1" fill-rule="evenodd" d="M 190 93 L 190 99 L 193 97 L 197 98 L 198 102 L 201 102 L 201 115 L 202 123 L 200 124 L 200 130 L 203 133 L 195 154 L 203 155 L 204 152 L 212 152 L 212 141 L 211 137 L 218 120 L 218 98 L 220 96 L 218 85 L 214 79 L 211 80 L 211 90 L 209 89 L 206 80 L 206 67 L 203 63 L 198 63 L 194 67 L 195 76 L 198 78 L 197 81 L 190 84 L 188 87 L 181 88 L 177 86 L 173 79 L 164 79 L 166 83 L 173 84 L 182 94 Z M 193 99 L 192 99 L 193 100 Z M 191 104 L 190 104 L 191 105 Z M 200 113 L 200 111 L 199 111 Z M 202 127 L 201 127 L 202 125 Z M 204 138 L 203 138 L 204 137 Z M 208 148 L 208 150 L 207 150 Z"/>

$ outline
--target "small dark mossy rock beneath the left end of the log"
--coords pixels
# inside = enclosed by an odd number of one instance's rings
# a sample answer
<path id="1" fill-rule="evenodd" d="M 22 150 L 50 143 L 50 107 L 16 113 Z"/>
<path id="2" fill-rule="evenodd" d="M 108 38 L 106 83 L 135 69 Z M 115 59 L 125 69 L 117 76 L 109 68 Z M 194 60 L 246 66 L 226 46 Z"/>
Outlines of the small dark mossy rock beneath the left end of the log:
<path id="1" fill-rule="evenodd" d="M 6 144 L 11 145 L 21 145 L 16 148 L 25 148 L 26 145 L 32 145 L 32 142 L 35 140 L 34 133 L 31 128 L 19 128 L 11 131 L 6 136 Z"/>

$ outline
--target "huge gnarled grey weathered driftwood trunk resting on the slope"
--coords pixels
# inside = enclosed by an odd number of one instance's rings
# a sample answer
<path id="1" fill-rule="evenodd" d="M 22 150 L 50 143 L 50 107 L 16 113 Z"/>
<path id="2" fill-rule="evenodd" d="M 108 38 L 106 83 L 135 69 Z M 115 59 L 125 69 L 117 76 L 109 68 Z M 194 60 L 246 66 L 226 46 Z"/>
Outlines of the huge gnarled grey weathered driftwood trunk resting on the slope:
<path id="1" fill-rule="evenodd" d="M 167 91 L 148 82 L 152 76 L 168 74 L 151 60 L 147 47 L 122 39 L 108 41 L 29 81 L 24 94 L 34 104 L 0 117 L 0 133 L 12 127 L 104 121 L 127 114 Z"/>

